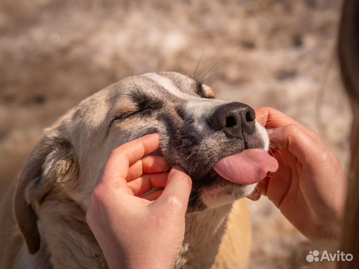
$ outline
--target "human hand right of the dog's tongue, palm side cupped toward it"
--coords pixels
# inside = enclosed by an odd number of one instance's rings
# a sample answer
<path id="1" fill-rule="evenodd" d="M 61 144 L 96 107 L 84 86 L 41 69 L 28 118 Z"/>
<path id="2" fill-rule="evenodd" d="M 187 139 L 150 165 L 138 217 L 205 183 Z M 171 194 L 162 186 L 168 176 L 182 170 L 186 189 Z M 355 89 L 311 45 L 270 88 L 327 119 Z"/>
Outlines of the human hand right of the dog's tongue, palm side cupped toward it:
<path id="1" fill-rule="evenodd" d="M 307 238 L 338 239 L 348 180 L 337 157 L 317 133 L 275 109 L 260 108 L 256 118 L 279 163 L 260 192 Z"/>

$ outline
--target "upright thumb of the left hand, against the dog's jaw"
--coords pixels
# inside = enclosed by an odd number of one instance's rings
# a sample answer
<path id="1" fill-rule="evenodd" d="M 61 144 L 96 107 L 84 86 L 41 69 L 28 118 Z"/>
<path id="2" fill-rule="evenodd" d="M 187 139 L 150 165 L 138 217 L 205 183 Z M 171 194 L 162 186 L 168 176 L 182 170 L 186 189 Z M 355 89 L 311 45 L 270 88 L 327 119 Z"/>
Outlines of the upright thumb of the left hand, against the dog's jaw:
<path id="1" fill-rule="evenodd" d="M 171 169 L 166 187 L 156 202 L 170 203 L 170 206 L 176 204 L 186 210 L 191 189 L 192 180 L 189 175 L 180 166 L 175 166 Z"/>

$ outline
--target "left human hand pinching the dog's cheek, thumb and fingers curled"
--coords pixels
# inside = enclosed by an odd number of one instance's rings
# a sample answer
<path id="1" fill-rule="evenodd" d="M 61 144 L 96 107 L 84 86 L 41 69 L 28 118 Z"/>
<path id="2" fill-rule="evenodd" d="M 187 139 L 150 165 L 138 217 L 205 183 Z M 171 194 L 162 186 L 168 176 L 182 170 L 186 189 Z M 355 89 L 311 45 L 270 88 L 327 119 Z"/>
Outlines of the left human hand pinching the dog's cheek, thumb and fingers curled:
<path id="1" fill-rule="evenodd" d="M 159 144 L 150 134 L 114 149 L 93 192 L 86 220 L 110 268 L 172 268 L 181 249 L 192 181 L 147 155 Z"/>

